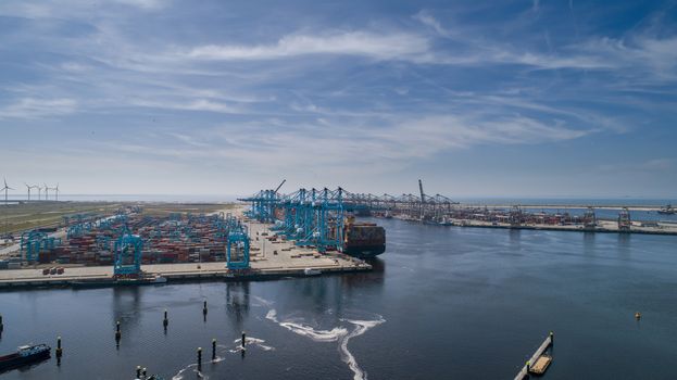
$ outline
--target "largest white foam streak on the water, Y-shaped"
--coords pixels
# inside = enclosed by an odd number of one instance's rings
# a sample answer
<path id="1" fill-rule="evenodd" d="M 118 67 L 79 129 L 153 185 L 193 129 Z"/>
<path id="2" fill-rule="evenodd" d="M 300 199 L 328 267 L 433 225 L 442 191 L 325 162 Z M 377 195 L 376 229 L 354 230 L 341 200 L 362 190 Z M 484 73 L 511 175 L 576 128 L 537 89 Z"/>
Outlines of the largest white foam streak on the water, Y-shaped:
<path id="1" fill-rule="evenodd" d="M 378 319 L 374 320 L 358 320 L 358 319 L 340 319 L 341 321 L 354 325 L 354 329 L 350 332 L 344 327 L 335 327 L 331 330 L 315 330 L 313 327 L 298 324 L 293 321 L 279 321 L 277 319 L 277 311 L 271 309 L 266 314 L 266 319 L 276 322 L 277 325 L 299 334 L 312 339 L 315 342 L 339 342 L 339 352 L 341 354 L 341 360 L 348 364 L 348 367 L 353 372 L 353 380 L 366 380 L 366 372 L 360 368 L 358 360 L 348 350 L 348 342 L 355 337 L 362 335 L 369 329 L 384 324 L 386 319 L 383 316 L 378 316 Z M 248 339 L 249 340 L 249 339 Z"/>

